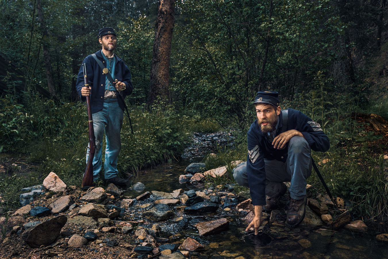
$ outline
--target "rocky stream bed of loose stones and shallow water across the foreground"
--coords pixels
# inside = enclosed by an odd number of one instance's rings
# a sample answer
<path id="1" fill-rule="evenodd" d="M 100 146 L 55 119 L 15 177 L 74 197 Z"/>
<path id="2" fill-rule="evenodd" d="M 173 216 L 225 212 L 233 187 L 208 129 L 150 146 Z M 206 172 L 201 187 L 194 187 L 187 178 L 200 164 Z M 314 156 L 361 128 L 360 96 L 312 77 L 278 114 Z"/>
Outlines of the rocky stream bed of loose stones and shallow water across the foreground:
<path id="1" fill-rule="evenodd" d="M 286 194 L 279 209 L 263 212 L 258 235 L 246 233 L 253 218 L 247 193 L 203 183 L 207 175 L 227 177 L 226 167 L 205 171 L 200 160 L 232 140 L 227 131 L 194 134 L 183 161 L 143 170 L 126 189 L 81 191 L 51 172 L 42 185 L 22 189 L 21 208 L 0 219 L 0 258 L 388 258 L 388 234 L 350 221 L 340 197 L 344 217 L 333 220 L 333 202 L 313 196 L 310 185 L 298 227 L 285 226 Z"/>

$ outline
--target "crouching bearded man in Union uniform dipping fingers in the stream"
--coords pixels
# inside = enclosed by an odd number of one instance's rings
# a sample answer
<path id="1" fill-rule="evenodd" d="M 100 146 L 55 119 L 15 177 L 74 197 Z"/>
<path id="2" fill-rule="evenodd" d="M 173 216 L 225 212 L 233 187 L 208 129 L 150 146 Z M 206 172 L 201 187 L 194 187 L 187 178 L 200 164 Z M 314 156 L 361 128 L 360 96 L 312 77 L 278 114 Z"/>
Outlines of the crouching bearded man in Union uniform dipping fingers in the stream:
<path id="1" fill-rule="evenodd" d="M 234 169 L 237 183 L 249 187 L 255 217 L 246 231 L 262 224 L 262 210 L 270 212 L 291 182 L 287 225 L 297 226 L 305 216 L 306 179 L 311 175 L 311 149 L 327 151 L 329 138 L 320 125 L 300 111 L 281 110 L 279 94 L 260 91 L 253 104 L 257 120 L 248 131 L 248 158 Z M 267 197 L 266 197 L 267 195 Z"/>

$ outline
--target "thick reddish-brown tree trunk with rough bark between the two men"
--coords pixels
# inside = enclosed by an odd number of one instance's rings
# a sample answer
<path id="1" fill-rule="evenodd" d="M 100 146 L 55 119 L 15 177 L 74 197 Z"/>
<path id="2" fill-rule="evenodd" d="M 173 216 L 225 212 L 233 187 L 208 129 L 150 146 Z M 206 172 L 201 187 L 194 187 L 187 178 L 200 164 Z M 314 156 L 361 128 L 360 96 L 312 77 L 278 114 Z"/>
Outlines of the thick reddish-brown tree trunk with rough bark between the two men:
<path id="1" fill-rule="evenodd" d="M 170 56 L 174 28 L 174 0 L 159 0 L 158 19 L 156 20 L 155 41 L 152 50 L 151 78 L 147 97 L 149 106 L 160 96 L 170 103 Z"/>

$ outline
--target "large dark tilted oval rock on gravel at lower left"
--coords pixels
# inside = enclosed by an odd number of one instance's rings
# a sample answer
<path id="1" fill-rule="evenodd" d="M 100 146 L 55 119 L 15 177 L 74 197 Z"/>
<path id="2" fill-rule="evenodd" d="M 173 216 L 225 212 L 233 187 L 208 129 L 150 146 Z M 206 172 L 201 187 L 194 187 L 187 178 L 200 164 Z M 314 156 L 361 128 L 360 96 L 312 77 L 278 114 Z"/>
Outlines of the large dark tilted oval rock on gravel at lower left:
<path id="1" fill-rule="evenodd" d="M 23 239 L 33 248 L 52 244 L 61 233 L 68 218 L 64 215 L 44 221 L 23 233 Z"/>

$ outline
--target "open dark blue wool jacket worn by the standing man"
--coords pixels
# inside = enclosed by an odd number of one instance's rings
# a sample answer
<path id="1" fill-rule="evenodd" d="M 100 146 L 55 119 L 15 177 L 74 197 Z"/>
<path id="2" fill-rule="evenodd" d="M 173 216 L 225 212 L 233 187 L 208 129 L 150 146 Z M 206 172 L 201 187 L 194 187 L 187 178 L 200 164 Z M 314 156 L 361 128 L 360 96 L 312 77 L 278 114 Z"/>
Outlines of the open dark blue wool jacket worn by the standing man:
<path id="1" fill-rule="evenodd" d="M 95 54 L 97 58 L 100 59 L 101 62 L 104 62 L 103 64 L 106 66 L 101 50 L 97 51 Z M 121 60 L 116 55 L 114 56 L 116 57 L 116 68 L 114 70 L 114 78 L 116 78 L 120 82 L 125 83 L 125 90 L 120 92 L 125 98 L 125 96 L 132 93 L 132 89 L 133 89 L 133 86 L 131 83 L 131 72 L 129 71 L 128 67 L 124 64 L 123 60 Z M 92 87 L 92 94 L 90 96 L 90 108 L 92 110 L 92 113 L 95 113 L 101 110 L 102 106 L 104 105 L 106 75 L 102 73 L 102 69 L 97 64 L 97 61 L 95 61 L 92 55 L 87 56 L 82 61 L 82 64 L 83 63 L 86 63 L 88 81 L 89 81 L 89 85 Z M 77 88 L 78 94 L 81 97 L 81 100 L 86 101 L 86 97 L 81 96 L 81 88 L 83 87 L 83 85 L 84 85 L 83 70 L 81 66 L 80 72 L 78 73 L 76 88 Z M 125 109 L 124 103 L 121 100 L 121 97 L 118 96 L 117 100 L 120 108 L 124 110 Z"/>

